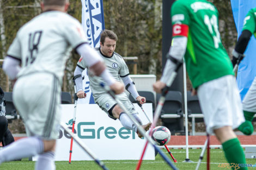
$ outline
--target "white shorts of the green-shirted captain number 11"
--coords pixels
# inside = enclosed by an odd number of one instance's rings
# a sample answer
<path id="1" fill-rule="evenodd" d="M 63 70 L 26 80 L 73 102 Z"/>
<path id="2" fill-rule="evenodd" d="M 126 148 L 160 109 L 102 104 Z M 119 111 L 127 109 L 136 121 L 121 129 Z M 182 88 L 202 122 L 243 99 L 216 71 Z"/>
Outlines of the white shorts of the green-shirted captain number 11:
<path id="1" fill-rule="evenodd" d="M 214 129 L 224 126 L 235 129 L 245 122 L 236 79 L 233 75 L 225 75 L 200 85 L 197 94 L 207 133 L 212 134 Z"/>

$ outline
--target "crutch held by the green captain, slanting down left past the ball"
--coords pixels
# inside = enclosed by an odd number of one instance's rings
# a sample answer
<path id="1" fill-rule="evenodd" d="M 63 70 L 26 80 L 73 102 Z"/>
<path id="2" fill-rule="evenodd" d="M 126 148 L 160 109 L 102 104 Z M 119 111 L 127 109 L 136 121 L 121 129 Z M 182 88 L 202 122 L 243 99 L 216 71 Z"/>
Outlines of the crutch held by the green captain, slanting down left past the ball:
<path id="1" fill-rule="evenodd" d="M 174 72 L 172 72 L 172 74 L 170 75 L 170 78 L 168 79 L 168 81 L 166 83 L 166 87 L 164 87 L 163 90 L 162 90 L 162 95 L 159 99 L 159 102 L 157 103 L 156 110 L 155 110 L 155 113 L 154 113 L 153 123 L 152 123 L 152 126 L 150 128 L 150 133 L 149 133 L 150 137 L 153 134 L 153 127 L 156 126 L 157 119 L 159 118 L 159 116 L 161 114 L 161 110 L 163 108 L 164 101 L 166 100 L 166 95 L 168 93 L 169 87 L 173 84 L 173 81 L 174 81 L 176 75 L 178 74 L 178 71 L 179 71 L 179 68 L 181 67 L 181 65 L 182 65 L 182 62 L 176 61 L 176 69 L 175 69 Z M 145 147 L 144 147 L 142 155 L 141 155 L 141 159 L 139 159 L 139 161 L 138 161 L 136 170 L 138 170 L 141 167 L 142 159 L 143 159 L 143 156 L 145 154 L 145 150 L 147 149 L 147 146 L 148 146 L 148 141 L 145 144 Z"/>

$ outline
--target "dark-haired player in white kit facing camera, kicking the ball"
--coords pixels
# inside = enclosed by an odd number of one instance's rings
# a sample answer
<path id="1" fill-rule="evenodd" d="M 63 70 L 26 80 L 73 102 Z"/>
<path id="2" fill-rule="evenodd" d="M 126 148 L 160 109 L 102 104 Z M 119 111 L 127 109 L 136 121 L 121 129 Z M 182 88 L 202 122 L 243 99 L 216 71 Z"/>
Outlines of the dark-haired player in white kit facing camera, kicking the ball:
<path id="1" fill-rule="evenodd" d="M 116 52 L 115 45 L 117 42 L 117 35 L 111 30 L 103 30 L 100 36 L 100 48 L 95 48 L 95 51 L 101 56 L 104 60 L 109 72 L 117 81 L 124 81 L 126 86 L 126 90 L 131 93 L 131 95 L 141 104 L 145 103 L 145 97 L 139 96 L 135 84 L 132 79 L 129 77 L 129 70 L 127 65 L 125 64 L 124 59 Z M 87 67 L 87 62 L 84 60 L 79 60 L 77 62 L 77 67 L 75 69 L 75 77 L 76 75 L 81 75 L 82 71 Z M 137 126 L 133 124 L 130 118 L 125 114 L 125 112 L 117 105 L 117 102 L 111 98 L 108 94 L 105 93 L 100 87 L 100 83 L 104 82 L 102 78 L 93 76 L 89 74 L 90 87 L 92 89 L 93 97 L 95 103 L 100 106 L 100 108 L 105 111 L 109 117 L 113 119 L 119 119 L 121 124 L 130 130 L 134 130 L 137 132 L 138 137 L 142 137 L 142 135 L 138 132 Z M 84 91 L 82 87 L 82 77 L 75 79 L 77 86 L 77 97 L 84 98 Z M 137 119 L 137 121 L 142 124 L 141 119 L 137 116 L 138 113 L 135 110 L 133 104 L 127 97 L 126 93 L 123 92 L 117 96 L 120 102 L 122 102 L 126 109 L 132 114 L 133 117 Z M 144 99 L 144 102 L 142 102 Z M 142 125 L 142 127 L 147 131 L 150 127 L 151 123 Z"/>

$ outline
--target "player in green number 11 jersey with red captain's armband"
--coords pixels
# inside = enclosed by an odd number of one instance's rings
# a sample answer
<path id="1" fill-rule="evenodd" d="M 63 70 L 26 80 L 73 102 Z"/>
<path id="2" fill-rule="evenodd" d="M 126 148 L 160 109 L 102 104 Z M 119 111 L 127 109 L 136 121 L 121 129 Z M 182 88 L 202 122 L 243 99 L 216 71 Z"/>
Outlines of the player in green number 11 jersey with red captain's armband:
<path id="1" fill-rule="evenodd" d="M 229 163 L 246 163 L 233 131 L 245 118 L 233 67 L 218 32 L 216 7 L 205 0 L 179 0 L 174 2 L 171 13 L 173 42 L 162 78 L 153 85 L 154 90 L 161 92 L 169 74 L 185 55 L 187 72 L 197 90 L 207 133 L 215 133 Z"/>

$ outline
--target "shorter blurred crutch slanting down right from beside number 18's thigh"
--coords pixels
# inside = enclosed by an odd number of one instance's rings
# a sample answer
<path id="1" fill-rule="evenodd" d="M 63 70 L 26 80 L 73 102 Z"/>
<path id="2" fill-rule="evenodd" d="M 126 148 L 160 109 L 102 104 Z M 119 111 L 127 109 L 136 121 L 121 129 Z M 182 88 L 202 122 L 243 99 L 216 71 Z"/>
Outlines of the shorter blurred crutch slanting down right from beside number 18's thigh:
<path id="1" fill-rule="evenodd" d="M 83 148 L 83 150 L 92 158 L 94 161 L 99 165 L 102 169 L 108 170 L 108 168 L 104 165 L 102 161 L 96 158 L 96 156 L 89 150 L 89 148 L 86 147 L 86 145 L 78 138 L 75 136 L 74 133 L 70 131 L 70 129 L 65 125 L 65 123 L 61 122 L 60 126 L 72 137 L 74 140 L 79 144 L 80 147 Z"/>

